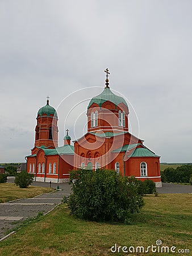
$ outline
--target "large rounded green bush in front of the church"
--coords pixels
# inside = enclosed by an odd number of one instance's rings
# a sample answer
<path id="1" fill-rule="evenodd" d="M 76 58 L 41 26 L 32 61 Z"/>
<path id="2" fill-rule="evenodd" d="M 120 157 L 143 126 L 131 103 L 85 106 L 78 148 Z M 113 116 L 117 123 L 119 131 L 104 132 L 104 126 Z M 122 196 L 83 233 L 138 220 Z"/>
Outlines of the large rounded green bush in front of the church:
<path id="1" fill-rule="evenodd" d="M 122 177 L 113 170 L 71 171 L 70 183 L 73 193 L 66 201 L 70 213 L 82 219 L 126 221 L 144 205 L 135 178 Z"/>

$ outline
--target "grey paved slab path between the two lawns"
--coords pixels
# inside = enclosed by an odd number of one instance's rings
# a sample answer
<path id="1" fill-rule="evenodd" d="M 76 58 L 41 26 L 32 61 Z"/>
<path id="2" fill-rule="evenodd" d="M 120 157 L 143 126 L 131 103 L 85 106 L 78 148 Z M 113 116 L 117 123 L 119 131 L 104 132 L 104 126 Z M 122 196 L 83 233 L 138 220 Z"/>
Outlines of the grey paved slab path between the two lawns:
<path id="1" fill-rule="evenodd" d="M 29 217 L 36 217 L 39 212 L 45 214 L 52 210 L 66 195 L 70 187 L 62 191 L 42 194 L 31 199 L 19 199 L 0 204 L 0 239 L 8 230 L 14 229 Z"/>

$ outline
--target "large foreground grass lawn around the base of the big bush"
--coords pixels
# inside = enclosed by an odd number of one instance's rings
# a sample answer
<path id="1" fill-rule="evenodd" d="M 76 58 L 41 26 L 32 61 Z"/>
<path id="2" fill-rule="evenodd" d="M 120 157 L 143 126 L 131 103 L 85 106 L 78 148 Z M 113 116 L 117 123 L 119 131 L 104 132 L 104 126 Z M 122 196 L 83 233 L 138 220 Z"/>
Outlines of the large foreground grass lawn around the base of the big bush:
<path id="1" fill-rule="evenodd" d="M 192 195 L 144 197 L 145 207 L 130 225 L 82 221 L 70 216 L 65 204 L 22 227 L 0 242 L 0 255 L 176 255 L 176 253 L 111 253 L 118 246 L 163 246 L 190 249 L 192 254 Z M 160 246 L 161 248 L 161 246 Z M 180 253 L 180 255 L 184 255 Z"/>

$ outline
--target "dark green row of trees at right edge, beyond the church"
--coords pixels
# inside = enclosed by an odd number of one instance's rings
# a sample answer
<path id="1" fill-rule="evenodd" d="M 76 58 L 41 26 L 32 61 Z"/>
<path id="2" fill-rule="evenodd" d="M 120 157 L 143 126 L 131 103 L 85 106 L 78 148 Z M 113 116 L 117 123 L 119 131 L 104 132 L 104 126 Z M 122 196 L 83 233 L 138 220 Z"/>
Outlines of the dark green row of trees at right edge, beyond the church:
<path id="1" fill-rule="evenodd" d="M 174 168 L 166 168 L 161 172 L 162 182 L 177 182 L 177 183 L 191 183 L 192 184 L 192 165 L 185 164 Z"/>

